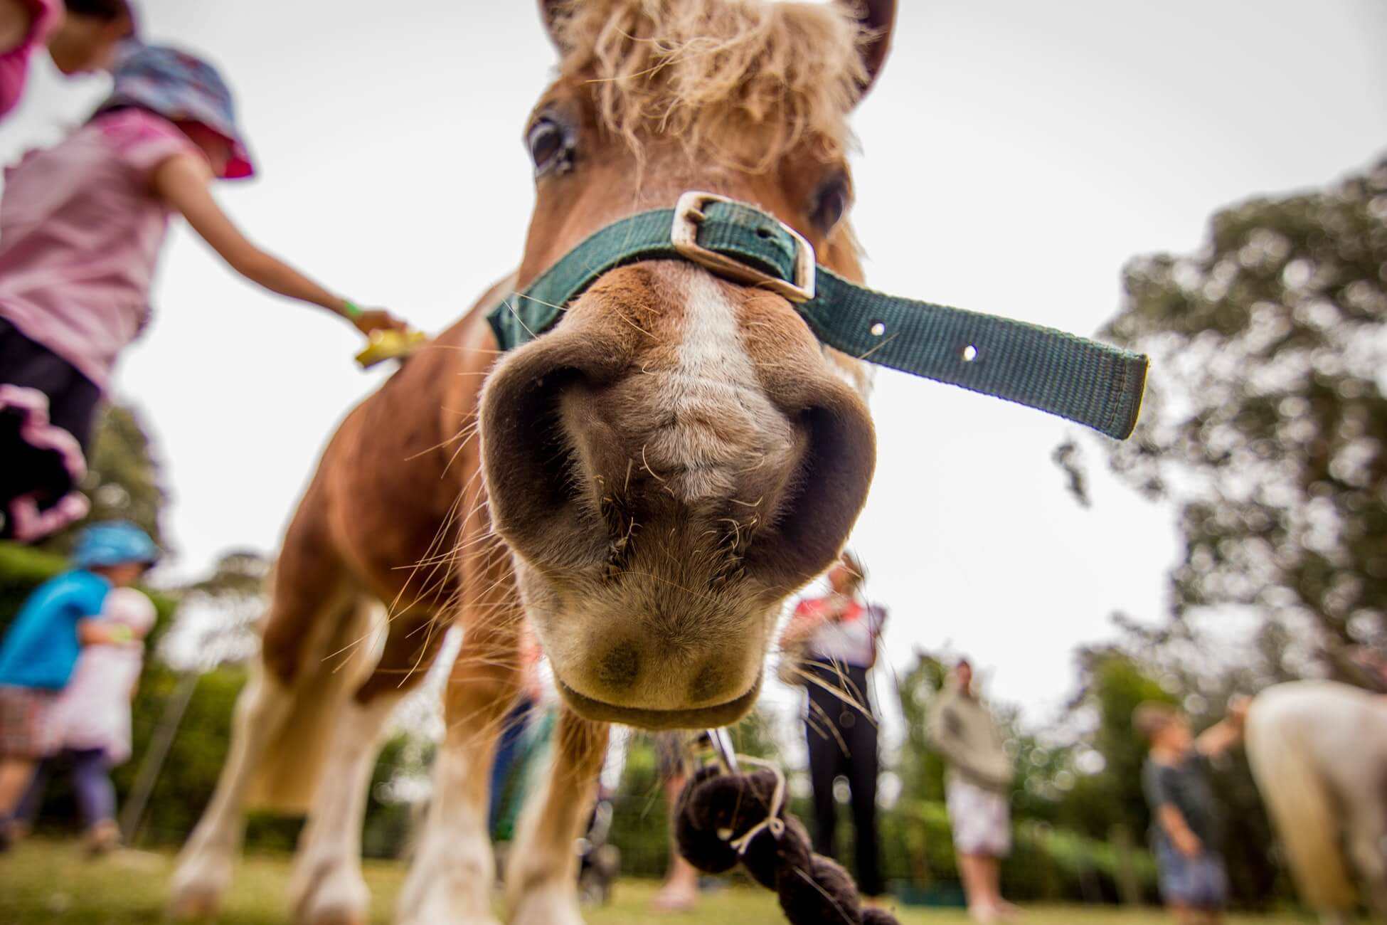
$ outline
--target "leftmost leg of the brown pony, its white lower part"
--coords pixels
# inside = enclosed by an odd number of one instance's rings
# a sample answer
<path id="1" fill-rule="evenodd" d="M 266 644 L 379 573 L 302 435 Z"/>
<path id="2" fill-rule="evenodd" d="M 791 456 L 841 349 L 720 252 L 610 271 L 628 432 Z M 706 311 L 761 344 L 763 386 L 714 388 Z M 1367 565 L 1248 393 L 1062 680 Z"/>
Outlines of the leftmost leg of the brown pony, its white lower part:
<path id="1" fill-rule="evenodd" d="M 222 894 L 230 886 L 232 865 L 240 847 L 245 788 L 266 743 L 291 707 L 291 693 L 261 668 L 251 674 L 236 699 L 226 764 L 173 872 L 168 904 L 173 918 L 203 918 L 216 913 Z"/>

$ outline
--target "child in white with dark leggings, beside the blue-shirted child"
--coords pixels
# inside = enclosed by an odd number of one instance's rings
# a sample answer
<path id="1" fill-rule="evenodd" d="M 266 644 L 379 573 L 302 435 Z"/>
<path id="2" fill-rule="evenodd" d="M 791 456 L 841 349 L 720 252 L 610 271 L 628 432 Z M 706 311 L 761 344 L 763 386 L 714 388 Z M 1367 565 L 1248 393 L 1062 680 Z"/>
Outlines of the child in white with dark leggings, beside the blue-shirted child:
<path id="1" fill-rule="evenodd" d="M 154 602 L 143 592 L 112 588 L 100 619 L 112 628 L 128 627 L 129 641 L 83 646 L 72 680 L 53 707 L 53 724 L 61 731 L 61 759 L 71 768 L 92 854 L 104 854 L 121 840 L 110 770 L 130 757 L 130 699 L 144 664 L 144 637 L 154 628 L 155 617 Z M 14 814 L 17 825 L 28 825 L 37 817 L 53 764 L 44 760 L 36 770 Z"/>

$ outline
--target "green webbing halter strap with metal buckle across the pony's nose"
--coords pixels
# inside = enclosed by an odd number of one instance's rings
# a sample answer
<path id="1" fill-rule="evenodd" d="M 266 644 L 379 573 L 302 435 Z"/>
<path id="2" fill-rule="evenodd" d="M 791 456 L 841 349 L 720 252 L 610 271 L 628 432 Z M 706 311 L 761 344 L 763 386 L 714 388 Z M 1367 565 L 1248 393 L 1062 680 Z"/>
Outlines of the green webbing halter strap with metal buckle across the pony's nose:
<path id="1" fill-rule="evenodd" d="M 674 209 L 608 225 L 488 320 L 502 349 L 552 327 L 603 273 L 682 258 L 791 300 L 820 341 L 850 356 L 1036 408 L 1125 440 L 1146 387 L 1140 354 L 994 315 L 875 293 L 814 263 L 792 229 L 757 208 L 685 193 Z"/>

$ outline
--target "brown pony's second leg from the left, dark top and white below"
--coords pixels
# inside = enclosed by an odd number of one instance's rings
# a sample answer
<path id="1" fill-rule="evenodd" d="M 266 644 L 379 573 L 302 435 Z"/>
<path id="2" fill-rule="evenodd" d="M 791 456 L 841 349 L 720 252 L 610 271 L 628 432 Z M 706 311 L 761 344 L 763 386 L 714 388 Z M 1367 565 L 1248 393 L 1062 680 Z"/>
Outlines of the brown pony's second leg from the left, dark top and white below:
<path id="1" fill-rule="evenodd" d="M 444 628 L 397 614 L 380 662 L 338 709 L 308 825 L 298 839 L 290 906 L 302 925 L 363 925 L 370 890 L 361 874 L 361 832 L 380 736 L 395 704 L 423 680 Z"/>

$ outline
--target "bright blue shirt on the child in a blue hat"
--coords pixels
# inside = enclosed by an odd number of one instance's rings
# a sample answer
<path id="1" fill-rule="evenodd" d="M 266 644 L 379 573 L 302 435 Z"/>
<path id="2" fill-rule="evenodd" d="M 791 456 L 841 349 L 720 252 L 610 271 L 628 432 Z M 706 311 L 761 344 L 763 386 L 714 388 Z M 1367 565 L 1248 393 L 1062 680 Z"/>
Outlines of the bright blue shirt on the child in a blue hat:
<path id="1" fill-rule="evenodd" d="M 0 684 L 61 691 L 82 643 L 78 623 L 101 613 L 111 582 L 92 571 L 65 571 L 29 595 L 0 643 Z"/>

